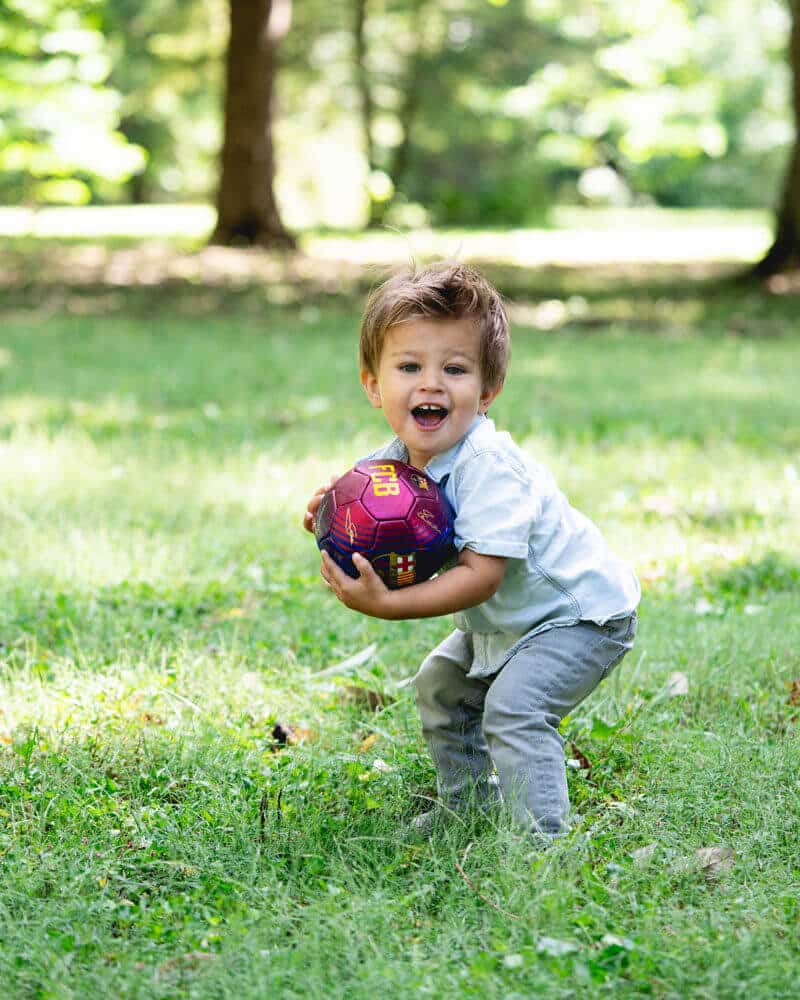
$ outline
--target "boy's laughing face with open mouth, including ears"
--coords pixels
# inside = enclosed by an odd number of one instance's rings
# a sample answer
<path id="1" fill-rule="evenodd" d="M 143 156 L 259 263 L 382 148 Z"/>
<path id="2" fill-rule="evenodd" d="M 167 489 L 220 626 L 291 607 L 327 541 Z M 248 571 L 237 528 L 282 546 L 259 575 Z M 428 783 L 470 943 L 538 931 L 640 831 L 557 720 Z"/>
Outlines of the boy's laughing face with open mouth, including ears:
<path id="1" fill-rule="evenodd" d="M 392 327 L 377 374 L 362 371 L 361 384 L 420 469 L 460 441 L 500 392 L 483 388 L 480 334 L 468 319 L 416 319 Z"/>

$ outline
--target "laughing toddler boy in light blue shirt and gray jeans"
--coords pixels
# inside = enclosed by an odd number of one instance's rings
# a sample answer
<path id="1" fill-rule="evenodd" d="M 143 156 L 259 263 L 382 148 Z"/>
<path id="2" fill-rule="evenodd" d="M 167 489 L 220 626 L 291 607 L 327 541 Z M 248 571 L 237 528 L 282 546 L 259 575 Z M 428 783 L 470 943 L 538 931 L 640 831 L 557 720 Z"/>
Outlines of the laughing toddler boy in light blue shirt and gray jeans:
<path id="1" fill-rule="evenodd" d="M 500 296 L 471 268 L 414 269 L 372 293 L 361 384 L 395 438 L 368 458 L 408 462 L 439 483 L 455 512 L 458 562 L 399 590 L 360 555 L 357 579 L 327 553 L 321 571 L 362 614 L 455 614 L 455 631 L 414 678 L 440 800 L 458 811 L 499 792 L 520 826 L 552 836 L 569 811 L 559 724 L 632 647 L 640 589 L 551 474 L 486 416 L 509 346 Z M 309 501 L 308 530 L 325 489 Z M 418 829 L 436 815 L 418 818 Z"/>

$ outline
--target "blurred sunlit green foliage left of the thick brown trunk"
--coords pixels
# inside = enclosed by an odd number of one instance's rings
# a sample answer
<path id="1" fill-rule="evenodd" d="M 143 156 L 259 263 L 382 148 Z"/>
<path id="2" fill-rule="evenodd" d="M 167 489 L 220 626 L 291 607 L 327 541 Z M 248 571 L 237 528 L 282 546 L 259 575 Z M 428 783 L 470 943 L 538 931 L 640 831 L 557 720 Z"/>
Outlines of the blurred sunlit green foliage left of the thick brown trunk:
<path id="1" fill-rule="evenodd" d="M 220 4 L 4 0 L 0 21 L 0 198 L 141 201 L 210 186 Z"/>

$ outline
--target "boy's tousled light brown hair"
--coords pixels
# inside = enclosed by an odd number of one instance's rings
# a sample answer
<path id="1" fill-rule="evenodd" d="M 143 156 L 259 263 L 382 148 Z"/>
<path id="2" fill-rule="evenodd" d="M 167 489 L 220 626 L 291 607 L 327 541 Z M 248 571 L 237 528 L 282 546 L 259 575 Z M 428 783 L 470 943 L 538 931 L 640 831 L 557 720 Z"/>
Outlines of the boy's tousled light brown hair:
<path id="1" fill-rule="evenodd" d="M 361 370 L 377 375 L 387 332 L 414 319 L 474 320 L 483 387 L 502 386 L 511 351 L 508 317 L 499 293 L 476 270 L 438 261 L 401 271 L 373 289 L 361 320 Z"/>

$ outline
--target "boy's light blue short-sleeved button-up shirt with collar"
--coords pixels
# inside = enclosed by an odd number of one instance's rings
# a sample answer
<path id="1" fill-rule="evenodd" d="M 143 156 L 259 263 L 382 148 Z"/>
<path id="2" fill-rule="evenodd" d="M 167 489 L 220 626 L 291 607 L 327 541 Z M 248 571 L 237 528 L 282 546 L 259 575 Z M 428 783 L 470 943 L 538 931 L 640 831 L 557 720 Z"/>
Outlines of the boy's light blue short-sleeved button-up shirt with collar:
<path id="1" fill-rule="evenodd" d="M 368 456 L 408 461 L 399 438 Z M 494 422 L 476 416 L 466 435 L 425 472 L 455 512 L 460 552 L 503 556 L 503 581 L 483 604 L 455 615 L 471 632 L 470 677 L 499 670 L 516 648 L 546 629 L 625 618 L 641 597 L 639 581 L 597 527 L 570 506 L 552 474 L 525 455 Z M 445 478 L 446 477 L 446 478 Z"/>

